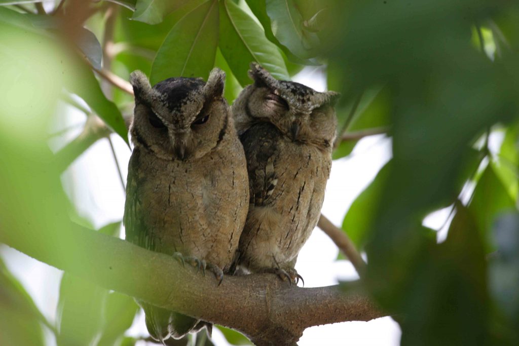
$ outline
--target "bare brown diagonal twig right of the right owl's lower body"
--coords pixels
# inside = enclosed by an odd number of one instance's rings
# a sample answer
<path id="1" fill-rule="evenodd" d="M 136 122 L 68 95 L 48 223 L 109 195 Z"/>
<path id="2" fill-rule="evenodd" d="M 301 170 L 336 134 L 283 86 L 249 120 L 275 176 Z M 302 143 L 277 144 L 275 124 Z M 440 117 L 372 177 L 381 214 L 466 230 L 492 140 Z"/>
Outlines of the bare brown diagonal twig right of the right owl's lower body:
<path id="1" fill-rule="evenodd" d="M 364 276 L 366 270 L 366 262 L 362 259 L 359 252 L 355 248 L 355 245 L 348 238 L 346 233 L 336 227 L 332 222 L 326 218 L 326 216 L 321 214 L 319 218 L 319 222 L 317 223 L 317 227 L 319 227 L 324 233 L 330 237 L 335 245 L 342 251 L 346 257 L 351 261 L 351 264 L 359 273 L 359 276 L 362 278 Z"/>

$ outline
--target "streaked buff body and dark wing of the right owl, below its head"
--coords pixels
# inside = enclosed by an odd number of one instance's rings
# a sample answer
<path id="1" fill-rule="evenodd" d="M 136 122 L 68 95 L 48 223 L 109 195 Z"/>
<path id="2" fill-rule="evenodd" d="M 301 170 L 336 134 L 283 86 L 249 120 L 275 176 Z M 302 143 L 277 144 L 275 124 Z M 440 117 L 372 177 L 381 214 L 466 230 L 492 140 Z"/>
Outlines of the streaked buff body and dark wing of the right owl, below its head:
<path id="1" fill-rule="evenodd" d="M 251 205 L 240 240 L 240 264 L 252 271 L 293 269 L 319 219 L 331 158 L 314 146 L 279 136 L 268 124 L 252 130 L 247 139 L 242 137 Z"/>

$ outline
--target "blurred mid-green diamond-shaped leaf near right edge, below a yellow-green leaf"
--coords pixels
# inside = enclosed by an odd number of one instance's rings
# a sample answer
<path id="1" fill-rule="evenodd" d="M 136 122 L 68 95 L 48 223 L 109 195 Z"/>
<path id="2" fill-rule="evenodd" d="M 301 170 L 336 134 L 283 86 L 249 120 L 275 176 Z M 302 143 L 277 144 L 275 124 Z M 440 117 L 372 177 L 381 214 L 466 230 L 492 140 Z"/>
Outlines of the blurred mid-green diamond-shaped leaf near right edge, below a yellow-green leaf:
<path id="1" fill-rule="evenodd" d="M 483 172 L 470 201 L 469 211 L 472 213 L 477 229 L 485 240 L 487 251 L 491 250 L 491 229 L 496 216 L 504 211 L 513 210 L 514 201 L 497 177 L 491 164 Z"/>

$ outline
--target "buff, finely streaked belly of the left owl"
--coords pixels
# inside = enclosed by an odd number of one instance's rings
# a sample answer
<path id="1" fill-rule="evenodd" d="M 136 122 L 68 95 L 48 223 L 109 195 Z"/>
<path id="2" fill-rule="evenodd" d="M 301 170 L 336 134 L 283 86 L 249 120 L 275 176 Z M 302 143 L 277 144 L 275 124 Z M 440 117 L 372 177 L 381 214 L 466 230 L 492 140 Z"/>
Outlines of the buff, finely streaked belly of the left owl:
<path id="1" fill-rule="evenodd" d="M 247 172 L 239 154 L 219 150 L 203 160 L 156 159 L 160 162 L 141 167 L 140 198 L 154 251 L 195 256 L 228 271 L 248 203 L 247 185 L 242 183 Z M 224 164 L 222 155 L 236 157 Z"/>

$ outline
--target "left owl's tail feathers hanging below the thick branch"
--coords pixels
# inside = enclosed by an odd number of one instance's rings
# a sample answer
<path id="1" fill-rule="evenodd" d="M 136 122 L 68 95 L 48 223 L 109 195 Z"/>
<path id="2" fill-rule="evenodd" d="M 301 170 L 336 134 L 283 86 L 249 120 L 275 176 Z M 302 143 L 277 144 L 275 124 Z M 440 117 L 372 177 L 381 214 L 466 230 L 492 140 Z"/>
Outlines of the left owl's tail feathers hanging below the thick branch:
<path id="1" fill-rule="evenodd" d="M 143 308 L 146 315 L 146 328 L 149 335 L 162 344 L 165 344 L 165 340 L 170 337 L 175 339 L 183 338 L 189 331 L 202 323 L 193 317 L 157 308 L 143 301 L 139 301 L 139 305 Z M 201 327 L 203 326 L 201 325 Z"/>

